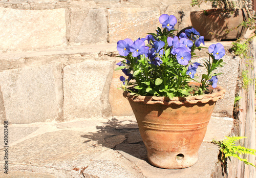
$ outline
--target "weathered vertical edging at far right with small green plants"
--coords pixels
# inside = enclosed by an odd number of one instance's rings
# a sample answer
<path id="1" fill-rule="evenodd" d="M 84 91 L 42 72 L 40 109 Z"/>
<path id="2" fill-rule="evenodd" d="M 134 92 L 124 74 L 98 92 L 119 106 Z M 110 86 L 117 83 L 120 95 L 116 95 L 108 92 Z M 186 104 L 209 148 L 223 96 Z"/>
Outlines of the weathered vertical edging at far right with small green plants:
<path id="1" fill-rule="evenodd" d="M 239 143 L 245 148 L 256 148 L 255 144 L 255 66 L 256 66 L 256 39 L 251 42 L 249 55 L 250 59 L 241 59 L 239 64 L 238 82 L 236 89 L 236 96 L 241 99 L 234 107 L 234 119 L 236 119 L 236 127 L 234 127 L 234 134 L 241 137 Z M 248 82 L 247 82 L 248 81 Z M 254 155 L 242 155 L 241 158 L 247 159 L 249 163 L 255 165 Z M 255 168 L 238 162 L 237 177 L 255 177 Z"/>

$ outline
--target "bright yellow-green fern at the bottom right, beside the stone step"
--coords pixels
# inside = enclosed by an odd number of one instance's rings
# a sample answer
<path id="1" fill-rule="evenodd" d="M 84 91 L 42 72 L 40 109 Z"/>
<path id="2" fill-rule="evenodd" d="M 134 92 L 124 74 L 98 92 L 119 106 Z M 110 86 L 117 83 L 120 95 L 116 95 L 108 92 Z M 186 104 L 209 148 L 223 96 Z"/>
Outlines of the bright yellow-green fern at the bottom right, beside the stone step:
<path id="1" fill-rule="evenodd" d="M 234 157 L 239 159 L 240 161 L 243 161 L 247 165 L 251 165 L 256 168 L 255 165 L 252 163 L 249 163 L 247 159 L 242 159 L 239 157 L 240 154 L 252 154 L 256 155 L 256 150 L 255 149 L 250 149 L 250 148 L 245 148 L 241 145 L 236 146 L 236 142 L 239 140 L 246 138 L 246 137 L 226 137 L 227 139 L 223 141 L 214 141 L 214 143 L 218 144 L 221 148 L 220 151 L 222 153 L 221 155 L 221 161 L 226 165 L 226 158 L 230 160 L 230 157 Z"/>

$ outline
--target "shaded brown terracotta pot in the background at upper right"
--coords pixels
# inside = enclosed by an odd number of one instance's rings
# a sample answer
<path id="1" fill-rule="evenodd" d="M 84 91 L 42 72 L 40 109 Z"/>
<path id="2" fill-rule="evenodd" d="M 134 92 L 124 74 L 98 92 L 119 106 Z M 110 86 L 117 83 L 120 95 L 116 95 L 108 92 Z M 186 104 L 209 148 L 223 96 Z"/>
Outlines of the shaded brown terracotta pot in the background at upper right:
<path id="1" fill-rule="evenodd" d="M 237 9 L 233 14 L 223 12 L 222 9 L 209 9 L 206 11 L 190 12 L 192 26 L 204 36 L 204 39 L 210 41 L 220 41 L 222 39 L 238 39 L 243 37 L 246 28 L 240 26 L 247 19 L 247 14 L 243 9 Z M 237 28 L 237 29 L 233 29 Z M 229 33 L 225 31 L 233 29 Z M 210 34 L 209 32 L 212 32 Z"/>

